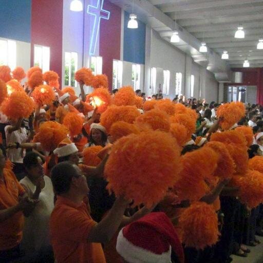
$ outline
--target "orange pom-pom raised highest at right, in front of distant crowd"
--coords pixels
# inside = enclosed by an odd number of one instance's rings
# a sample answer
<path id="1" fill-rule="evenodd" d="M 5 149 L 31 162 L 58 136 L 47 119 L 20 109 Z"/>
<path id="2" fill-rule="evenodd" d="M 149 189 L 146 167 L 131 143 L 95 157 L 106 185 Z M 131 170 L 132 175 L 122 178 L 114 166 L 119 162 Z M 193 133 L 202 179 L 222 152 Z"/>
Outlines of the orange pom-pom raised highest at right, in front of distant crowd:
<path id="1" fill-rule="evenodd" d="M 222 118 L 220 121 L 221 127 L 226 130 L 230 129 L 243 116 L 245 116 L 245 105 L 241 102 L 231 102 L 220 105 L 216 115 Z"/>

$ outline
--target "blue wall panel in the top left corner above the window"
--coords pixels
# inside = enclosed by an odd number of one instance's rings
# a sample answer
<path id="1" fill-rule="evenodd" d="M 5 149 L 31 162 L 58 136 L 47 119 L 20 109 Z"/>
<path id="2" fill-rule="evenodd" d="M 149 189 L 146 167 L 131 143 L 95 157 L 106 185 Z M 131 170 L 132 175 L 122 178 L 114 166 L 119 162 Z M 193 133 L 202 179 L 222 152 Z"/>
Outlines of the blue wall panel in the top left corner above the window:
<path id="1" fill-rule="evenodd" d="M 0 37 L 31 41 L 31 0 L 0 0 Z"/>

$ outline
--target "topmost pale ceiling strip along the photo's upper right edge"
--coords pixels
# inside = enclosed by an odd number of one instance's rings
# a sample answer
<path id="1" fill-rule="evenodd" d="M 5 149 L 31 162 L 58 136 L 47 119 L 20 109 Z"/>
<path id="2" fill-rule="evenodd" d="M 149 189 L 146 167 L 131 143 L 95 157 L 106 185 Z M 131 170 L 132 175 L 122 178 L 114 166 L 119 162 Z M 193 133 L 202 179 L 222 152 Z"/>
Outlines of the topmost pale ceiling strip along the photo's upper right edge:
<path id="1" fill-rule="evenodd" d="M 233 5 L 241 5 L 247 3 L 260 3 L 262 0 L 214 0 L 212 2 L 203 1 L 202 3 L 182 3 L 182 4 L 164 4 L 161 5 L 161 10 L 166 12 L 173 12 L 173 11 L 183 11 L 183 10 L 193 10 L 193 9 L 203 9 L 203 8 L 210 8 L 210 7 L 226 7 L 226 6 L 233 6 Z"/>

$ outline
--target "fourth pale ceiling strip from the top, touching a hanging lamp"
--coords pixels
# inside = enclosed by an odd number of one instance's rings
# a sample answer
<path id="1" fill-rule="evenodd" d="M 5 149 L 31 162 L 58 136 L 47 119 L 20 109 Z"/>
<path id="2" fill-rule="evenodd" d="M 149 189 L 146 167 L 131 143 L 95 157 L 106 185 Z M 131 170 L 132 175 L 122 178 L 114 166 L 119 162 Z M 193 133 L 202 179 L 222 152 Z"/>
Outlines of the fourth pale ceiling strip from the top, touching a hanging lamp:
<path id="1" fill-rule="evenodd" d="M 246 33 L 246 30 L 248 28 L 262 28 L 262 20 L 257 22 L 247 22 L 242 23 L 242 26 L 244 28 L 244 31 Z M 192 33 L 192 32 L 205 32 L 205 31 L 223 31 L 223 30 L 230 30 L 230 29 L 237 29 L 238 23 L 233 24 L 226 24 L 226 25 L 209 25 L 209 26 L 191 26 L 191 27 L 185 27 L 185 29 Z"/>

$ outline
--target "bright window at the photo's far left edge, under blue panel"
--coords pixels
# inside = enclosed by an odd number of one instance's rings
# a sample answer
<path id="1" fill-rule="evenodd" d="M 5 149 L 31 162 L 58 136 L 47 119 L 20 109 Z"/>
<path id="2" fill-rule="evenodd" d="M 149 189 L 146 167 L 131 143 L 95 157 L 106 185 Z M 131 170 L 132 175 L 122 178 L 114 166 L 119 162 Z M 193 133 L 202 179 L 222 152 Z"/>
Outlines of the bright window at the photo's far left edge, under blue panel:
<path id="1" fill-rule="evenodd" d="M 16 42 L 0 40 L 0 66 L 7 65 L 13 70 L 16 67 Z"/>

